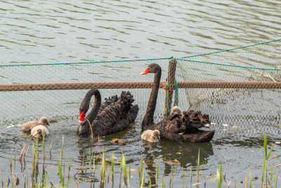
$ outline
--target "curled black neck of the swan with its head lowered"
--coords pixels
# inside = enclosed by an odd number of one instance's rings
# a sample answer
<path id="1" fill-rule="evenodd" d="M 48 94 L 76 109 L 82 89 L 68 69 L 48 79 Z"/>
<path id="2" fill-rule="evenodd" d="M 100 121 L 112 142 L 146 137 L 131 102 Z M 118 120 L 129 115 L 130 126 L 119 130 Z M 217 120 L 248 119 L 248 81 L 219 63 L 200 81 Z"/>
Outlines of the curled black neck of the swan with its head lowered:
<path id="1" fill-rule="evenodd" d="M 90 113 L 86 116 L 86 118 L 90 121 L 90 123 L 93 122 L 93 120 L 98 115 L 98 110 L 100 109 L 101 105 L 101 96 L 98 89 L 91 89 L 86 96 L 84 97 L 83 101 L 81 102 L 82 108 L 89 108 L 91 97 L 95 96 L 95 106 L 91 109 Z"/>

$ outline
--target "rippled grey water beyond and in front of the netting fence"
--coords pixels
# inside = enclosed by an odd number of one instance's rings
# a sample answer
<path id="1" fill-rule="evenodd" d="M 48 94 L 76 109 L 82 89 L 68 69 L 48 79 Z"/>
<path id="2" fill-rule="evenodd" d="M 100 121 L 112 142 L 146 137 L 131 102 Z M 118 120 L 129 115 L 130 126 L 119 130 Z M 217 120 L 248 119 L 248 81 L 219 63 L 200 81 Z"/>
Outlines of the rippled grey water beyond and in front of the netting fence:
<path id="1" fill-rule="evenodd" d="M 280 38 L 279 1 L 54 0 L 0 1 L 0 4 L 1 64 L 182 57 Z M 257 66 L 262 65 L 259 62 Z M 51 75 L 48 75 L 49 79 L 52 79 Z M 13 78 L 8 77 L 1 77 L 1 84 L 5 80 L 13 82 Z M 1 96 L 1 103 L 5 100 Z M 223 125 L 225 121 L 232 124 Z M 46 158 L 49 164 L 46 170 L 53 183 L 58 184 L 56 163 L 65 135 L 63 161 L 68 163 L 70 158 L 72 175 L 80 168 L 82 158 L 89 154 L 89 149 L 95 153 L 106 149 L 107 156 L 115 154 L 117 158 L 125 152 L 126 160 L 134 169 L 138 168 L 141 157 L 145 161 L 159 163 L 160 177 L 164 177 L 166 184 L 169 184 L 171 164 L 163 160 L 176 158 L 180 163 L 174 165 L 174 186 L 181 186 L 182 170 L 189 174 L 190 166 L 196 164 L 200 148 L 200 160 L 204 161 L 202 171 L 209 177 L 207 187 L 216 187 L 212 175 L 219 163 L 223 172 L 228 170 L 226 180 L 231 180 L 232 185 L 236 180 L 237 187 L 244 187 L 245 177 L 249 177 L 251 169 L 251 177 L 259 177 L 252 184 L 259 186 L 264 158 L 263 133 L 268 132 L 270 146 L 278 142 L 280 127 L 274 126 L 278 122 L 250 118 L 229 121 L 224 117 L 213 118 L 213 122 L 216 123 L 212 125 L 216 134 L 210 143 L 161 141 L 148 144 L 141 141 L 141 119 L 138 119 L 131 129 L 102 137 L 100 145 L 93 146 L 91 139 L 76 137 L 77 119 L 60 120 L 58 117 L 51 122 L 51 135 L 46 138 L 47 147 L 53 142 L 51 156 Z M 234 129 L 235 125 L 242 129 Z M 6 177 L 10 175 L 11 156 L 18 158 L 23 143 L 32 142 L 15 123 L 2 125 L 0 132 L 0 169 Z M 110 140 L 115 137 L 129 144 L 112 144 Z M 176 152 L 183 155 L 178 156 Z M 277 157 L 270 159 L 268 165 L 280 164 L 280 144 L 275 145 L 272 154 Z M 30 174 L 30 161 L 31 155 L 27 158 L 25 169 L 15 162 L 15 172 L 21 177 L 20 184 L 23 183 L 23 175 Z M 145 165 L 145 169 L 153 174 L 156 163 Z M 256 166 L 259 167 L 256 169 Z M 146 176 L 146 186 L 151 174 Z M 137 182 L 138 175 L 132 176 Z M 240 183 L 242 180 L 243 183 Z M 79 187 L 88 184 L 80 182 Z M 74 180 L 71 180 L 70 187 L 77 187 Z"/>

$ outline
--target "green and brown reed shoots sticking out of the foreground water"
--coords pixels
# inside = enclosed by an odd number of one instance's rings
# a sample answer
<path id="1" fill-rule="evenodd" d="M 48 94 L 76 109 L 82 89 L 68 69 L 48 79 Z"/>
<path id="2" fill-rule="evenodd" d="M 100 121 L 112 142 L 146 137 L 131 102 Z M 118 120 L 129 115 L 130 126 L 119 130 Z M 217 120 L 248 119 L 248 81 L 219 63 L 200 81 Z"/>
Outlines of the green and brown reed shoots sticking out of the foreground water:
<path id="1" fill-rule="evenodd" d="M 39 139 L 32 143 L 32 149 L 29 146 L 23 146 L 20 156 L 11 155 L 9 168 L 10 174 L 4 178 L 0 170 L 1 187 L 84 187 L 88 184 L 90 187 L 209 187 L 207 178 L 216 180 L 211 182 L 212 187 L 238 187 L 236 180 L 234 182 L 226 180 L 226 172 L 223 172 L 223 166 L 218 161 L 218 167 L 214 170 L 214 175 L 207 177 L 202 171 L 204 161 L 200 161 L 200 149 L 198 149 L 198 158 L 195 167 L 190 166 L 190 169 L 176 168 L 178 160 L 165 160 L 164 163 L 169 163 L 171 166 L 169 178 L 162 176 L 162 169 L 159 168 L 159 163 L 154 161 L 145 162 L 143 158 L 139 159 L 138 169 L 131 168 L 131 165 L 126 161 L 126 153 L 122 153 L 120 160 L 114 155 L 107 157 L 107 151 L 98 151 L 96 153 L 89 149 L 89 153 L 81 160 L 79 169 L 75 169 L 73 173 L 70 158 L 65 165 L 63 161 L 63 140 L 60 151 L 60 158 L 55 160 L 53 164 L 46 164 L 46 155 L 51 156 L 52 145 L 46 152 L 45 139 Z M 39 146 L 40 144 L 40 146 Z M 280 177 L 277 170 L 271 165 L 268 170 L 268 158 L 273 151 L 274 144 L 268 151 L 268 143 L 266 133 L 263 137 L 263 150 L 265 153 L 264 162 L 261 168 L 261 187 L 277 187 L 280 186 Z M 27 162 L 28 161 L 28 162 Z M 15 165 L 21 164 L 25 168 L 25 163 L 30 166 L 31 172 L 20 175 L 25 172 L 15 172 Z M 48 168 L 51 165 L 52 168 Z M 155 165 L 155 172 L 148 173 L 145 171 L 146 165 Z M 53 170 L 57 173 L 55 176 Z M 98 173 L 99 172 L 99 173 Z M 181 178 L 175 177 L 175 174 L 181 174 Z M 50 175 L 52 174 L 52 177 Z M 56 178 L 55 178 L 56 177 Z M 249 175 L 245 175 L 245 186 L 254 187 L 252 185 L 251 171 Z M 174 182 L 176 181 L 176 185 Z M 89 187 L 87 186 L 87 187 Z"/>

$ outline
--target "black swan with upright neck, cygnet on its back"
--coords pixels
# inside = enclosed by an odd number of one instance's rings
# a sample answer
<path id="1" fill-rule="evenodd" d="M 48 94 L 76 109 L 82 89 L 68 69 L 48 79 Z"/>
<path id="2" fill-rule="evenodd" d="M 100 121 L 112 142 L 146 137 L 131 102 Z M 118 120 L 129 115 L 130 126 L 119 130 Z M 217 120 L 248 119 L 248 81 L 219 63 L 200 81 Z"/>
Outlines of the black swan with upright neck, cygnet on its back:
<path id="1" fill-rule="evenodd" d="M 202 115 L 200 111 L 183 111 L 183 115 L 177 113 L 157 124 L 153 122 L 162 70 L 158 64 L 152 63 L 141 75 L 147 73 L 154 73 L 155 77 L 141 125 L 142 130 L 159 130 L 160 138 L 176 142 L 210 142 L 214 137 L 214 130 L 199 130 L 200 127 L 210 124 L 209 115 Z"/>

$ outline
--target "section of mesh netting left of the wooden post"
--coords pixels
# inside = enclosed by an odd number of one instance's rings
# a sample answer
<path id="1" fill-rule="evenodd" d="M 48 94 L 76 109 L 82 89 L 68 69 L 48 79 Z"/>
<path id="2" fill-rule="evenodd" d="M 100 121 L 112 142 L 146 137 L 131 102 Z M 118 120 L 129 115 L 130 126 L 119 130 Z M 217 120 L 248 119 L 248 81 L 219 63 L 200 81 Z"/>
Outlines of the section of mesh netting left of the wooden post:
<path id="1" fill-rule="evenodd" d="M 148 97 L 151 89 L 139 89 L 143 86 L 133 82 L 152 82 L 154 75 L 148 74 L 141 76 L 141 72 L 147 68 L 150 63 L 158 63 L 162 66 L 162 74 L 166 74 L 166 65 L 168 59 L 157 61 L 117 61 L 107 63 L 76 63 L 76 64 L 58 64 L 58 65 L 18 65 L 1 67 L 0 92 L 1 103 L 1 123 L 16 123 L 18 121 L 39 119 L 46 116 L 51 120 L 60 118 L 78 118 L 79 104 L 84 98 L 86 92 L 92 87 L 86 86 L 79 88 L 82 82 L 107 82 L 99 84 L 102 101 L 105 97 L 120 95 L 122 91 L 129 91 L 133 94 L 140 111 L 138 118 L 143 117 Z M 164 81 L 164 76 L 162 81 Z M 122 84 L 115 86 L 119 82 L 132 82 L 129 89 L 118 89 L 124 87 Z M 29 91 L 30 87 L 21 88 L 22 91 L 13 90 L 5 87 L 6 84 L 44 84 L 52 83 L 53 87 L 59 86 L 60 90 L 44 90 L 40 87 L 39 91 Z M 56 84 L 58 83 L 58 84 Z M 70 85 L 60 85 L 61 83 L 74 83 Z M 112 89 L 115 87 L 116 89 Z M 50 87 L 48 86 L 48 89 Z M 110 88 L 110 89 L 108 89 Z M 7 91 L 7 92 L 5 92 Z M 162 117 L 165 99 L 164 89 L 159 89 L 159 98 L 157 103 L 156 117 Z M 91 101 L 93 105 L 94 99 Z"/>

